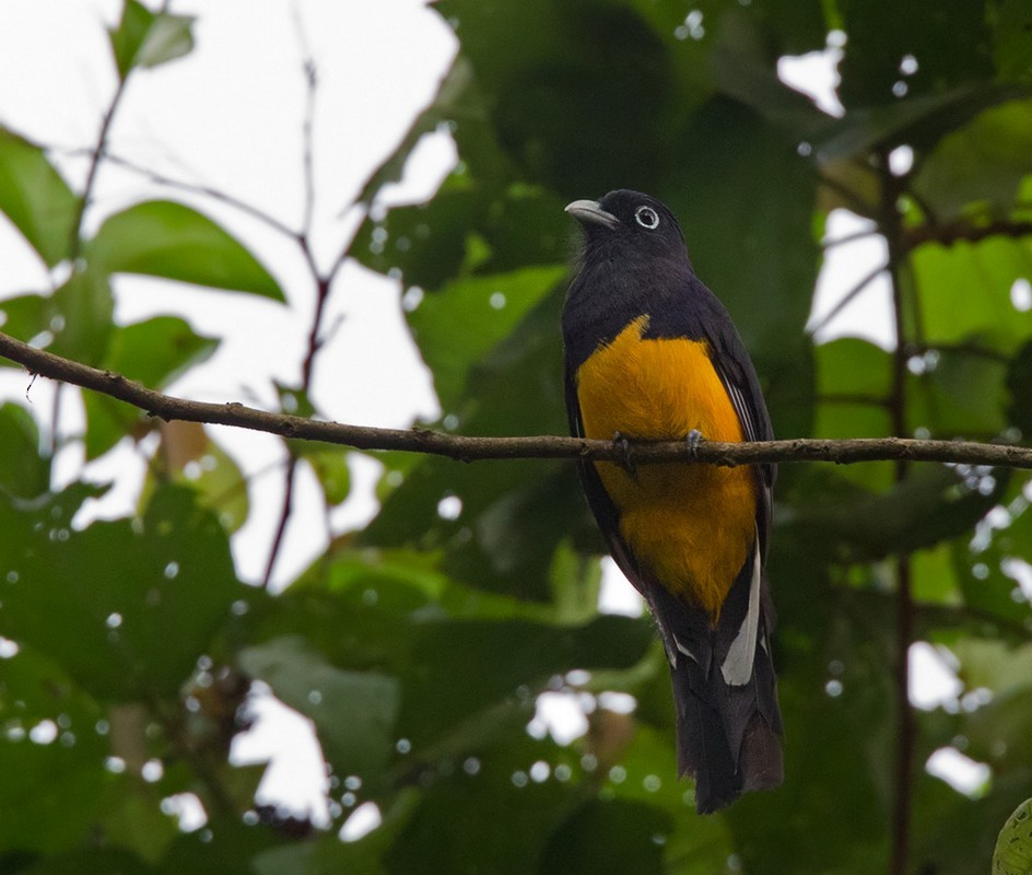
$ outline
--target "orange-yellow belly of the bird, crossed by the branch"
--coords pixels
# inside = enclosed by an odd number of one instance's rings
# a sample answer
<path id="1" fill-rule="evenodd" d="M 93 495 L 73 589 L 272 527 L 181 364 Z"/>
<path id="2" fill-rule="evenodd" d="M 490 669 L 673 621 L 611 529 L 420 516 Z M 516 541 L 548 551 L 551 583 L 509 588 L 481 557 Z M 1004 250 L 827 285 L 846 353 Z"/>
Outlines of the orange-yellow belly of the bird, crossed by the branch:
<path id="1" fill-rule="evenodd" d="M 635 320 L 578 369 L 585 436 L 673 441 L 697 429 L 711 441 L 741 441 L 705 343 L 642 339 L 647 324 Z M 631 474 L 605 462 L 596 469 L 637 561 L 716 621 L 755 537 L 753 469 L 662 464 Z"/>

